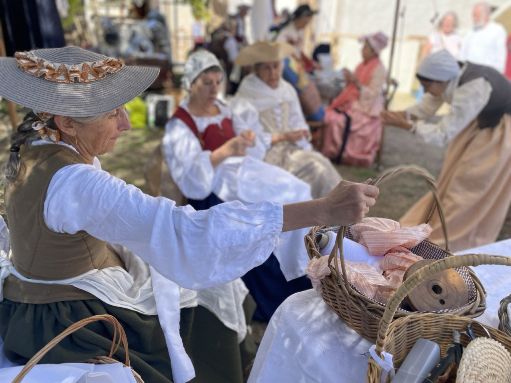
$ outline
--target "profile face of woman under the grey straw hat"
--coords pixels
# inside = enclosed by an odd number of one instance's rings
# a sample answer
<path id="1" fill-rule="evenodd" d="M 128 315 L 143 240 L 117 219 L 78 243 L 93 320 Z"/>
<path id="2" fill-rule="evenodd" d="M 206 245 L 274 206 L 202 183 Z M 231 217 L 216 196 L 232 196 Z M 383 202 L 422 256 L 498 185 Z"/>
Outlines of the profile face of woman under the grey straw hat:
<path id="1" fill-rule="evenodd" d="M 80 147 L 94 156 L 112 150 L 122 132 L 131 129 L 124 105 L 106 113 L 99 121 L 75 124 L 76 139 Z"/>

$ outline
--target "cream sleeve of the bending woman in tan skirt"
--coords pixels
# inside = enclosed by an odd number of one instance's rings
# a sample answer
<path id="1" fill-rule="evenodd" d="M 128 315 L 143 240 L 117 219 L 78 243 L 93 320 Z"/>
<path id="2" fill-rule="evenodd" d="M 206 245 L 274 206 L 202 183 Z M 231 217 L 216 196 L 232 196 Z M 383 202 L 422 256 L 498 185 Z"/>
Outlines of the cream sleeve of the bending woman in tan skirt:
<path id="1" fill-rule="evenodd" d="M 416 134 L 426 142 L 446 146 L 451 139 L 469 125 L 490 100 L 492 86 L 479 77 L 454 90 L 449 113 L 437 124 L 418 123 Z"/>

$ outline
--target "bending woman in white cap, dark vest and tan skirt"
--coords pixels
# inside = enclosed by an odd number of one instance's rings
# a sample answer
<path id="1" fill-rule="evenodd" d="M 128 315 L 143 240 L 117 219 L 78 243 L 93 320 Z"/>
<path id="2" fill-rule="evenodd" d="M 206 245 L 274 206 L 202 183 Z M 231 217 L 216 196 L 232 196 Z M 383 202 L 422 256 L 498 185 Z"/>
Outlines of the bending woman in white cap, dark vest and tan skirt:
<path id="1" fill-rule="evenodd" d="M 497 70 L 458 63 L 443 50 L 428 55 L 417 69 L 427 93 L 420 104 L 401 112 L 382 112 L 385 124 L 447 146 L 438 190 L 452 251 L 492 243 L 499 235 L 511 203 L 511 83 Z M 440 105 L 449 113 L 430 123 Z M 432 206 L 425 195 L 401 218 L 404 226 L 423 223 Z M 436 213 L 430 239 L 443 246 Z"/>

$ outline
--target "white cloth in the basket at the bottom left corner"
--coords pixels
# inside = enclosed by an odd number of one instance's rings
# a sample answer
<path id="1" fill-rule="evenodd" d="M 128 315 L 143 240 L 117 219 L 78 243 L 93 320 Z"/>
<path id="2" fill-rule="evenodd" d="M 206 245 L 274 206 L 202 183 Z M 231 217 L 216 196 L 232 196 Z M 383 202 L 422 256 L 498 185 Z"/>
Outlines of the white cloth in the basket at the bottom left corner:
<path id="1" fill-rule="evenodd" d="M 22 366 L 0 370 L 0 381 L 12 381 Z M 23 383 L 136 383 L 131 368 L 121 363 L 93 365 L 89 363 L 63 363 L 36 365 L 23 378 Z"/>

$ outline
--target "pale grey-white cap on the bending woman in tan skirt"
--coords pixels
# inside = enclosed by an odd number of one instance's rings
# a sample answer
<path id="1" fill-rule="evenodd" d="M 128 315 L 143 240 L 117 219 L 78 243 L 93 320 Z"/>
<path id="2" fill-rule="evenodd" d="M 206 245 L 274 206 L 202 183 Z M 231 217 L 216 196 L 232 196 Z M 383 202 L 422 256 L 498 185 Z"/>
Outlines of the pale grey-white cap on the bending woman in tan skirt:
<path id="1" fill-rule="evenodd" d="M 427 55 L 417 68 L 417 75 L 433 81 L 449 81 L 458 74 L 458 62 L 445 49 Z"/>

